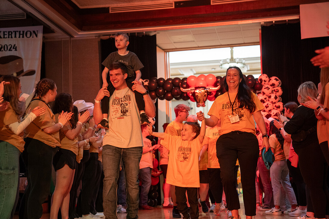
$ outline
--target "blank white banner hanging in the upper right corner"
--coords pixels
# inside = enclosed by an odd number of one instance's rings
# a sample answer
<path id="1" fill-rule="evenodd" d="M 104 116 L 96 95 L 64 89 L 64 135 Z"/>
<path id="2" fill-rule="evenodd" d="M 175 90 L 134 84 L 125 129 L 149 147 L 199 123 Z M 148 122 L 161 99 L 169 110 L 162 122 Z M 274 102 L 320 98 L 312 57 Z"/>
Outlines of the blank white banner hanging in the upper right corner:
<path id="1" fill-rule="evenodd" d="M 329 2 L 299 5 L 301 38 L 328 36 Z"/>

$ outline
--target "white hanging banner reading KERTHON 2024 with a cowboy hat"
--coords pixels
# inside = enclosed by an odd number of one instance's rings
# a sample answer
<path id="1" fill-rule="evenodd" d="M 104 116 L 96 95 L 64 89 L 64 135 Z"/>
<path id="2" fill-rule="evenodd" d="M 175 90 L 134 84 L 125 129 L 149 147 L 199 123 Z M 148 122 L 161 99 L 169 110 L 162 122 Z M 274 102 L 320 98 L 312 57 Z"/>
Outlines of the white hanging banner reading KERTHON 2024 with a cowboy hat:
<path id="1" fill-rule="evenodd" d="M 20 79 L 31 94 L 40 80 L 42 26 L 0 28 L 0 75 Z"/>

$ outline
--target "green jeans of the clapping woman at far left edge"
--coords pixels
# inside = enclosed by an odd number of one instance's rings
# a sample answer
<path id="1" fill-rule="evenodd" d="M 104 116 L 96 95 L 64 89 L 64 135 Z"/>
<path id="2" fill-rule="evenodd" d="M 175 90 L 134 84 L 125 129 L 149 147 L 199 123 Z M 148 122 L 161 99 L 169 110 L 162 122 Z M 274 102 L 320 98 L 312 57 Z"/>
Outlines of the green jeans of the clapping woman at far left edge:
<path id="1" fill-rule="evenodd" d="M 20 151 L 8 142 L 0 142 L 0 147 L 0 215 L 7 219 L 16 208 Z"/>

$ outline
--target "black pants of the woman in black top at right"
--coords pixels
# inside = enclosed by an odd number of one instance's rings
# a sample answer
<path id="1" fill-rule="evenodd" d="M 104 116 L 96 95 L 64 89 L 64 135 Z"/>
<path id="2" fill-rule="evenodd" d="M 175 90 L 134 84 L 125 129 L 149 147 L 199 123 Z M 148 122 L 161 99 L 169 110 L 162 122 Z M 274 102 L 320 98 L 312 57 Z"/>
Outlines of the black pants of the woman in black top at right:
<path id="1" fill-rule="evenodd" d="M 294 147 L 294 150 L 299 158 L 300 172 L 307 189 L 310 191 L 315 216 L 317 218 L 325 218 L 327 200 L 329 200 L 327 189 L 328 164 L 325 161 L 320 145 L 316 141 L 302 148 Z M 309 208 L 309 203 L 307 205 Z"/>

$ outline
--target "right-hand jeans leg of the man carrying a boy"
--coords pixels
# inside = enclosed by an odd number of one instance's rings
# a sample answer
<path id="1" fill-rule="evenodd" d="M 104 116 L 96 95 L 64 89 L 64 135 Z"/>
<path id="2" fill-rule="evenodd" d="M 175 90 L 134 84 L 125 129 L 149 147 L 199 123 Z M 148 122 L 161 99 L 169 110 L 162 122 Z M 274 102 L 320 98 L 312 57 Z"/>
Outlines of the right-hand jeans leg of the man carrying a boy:
<path id="1" fill-rule="evenodd" d="M 138 218 L 139 206 L 139 161 L 142 156 L 142 147 L 122 149 L 122 163 L 125 168 L 127 189 L 127 219 Z M 103 149 L 104 153 L 104 149 Z M 104 162 L 104 161 L 103 161 Z M 114 203 L 115 204 L 115 203 Z"/>

